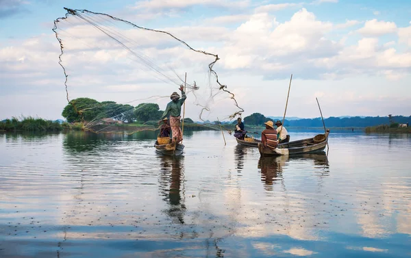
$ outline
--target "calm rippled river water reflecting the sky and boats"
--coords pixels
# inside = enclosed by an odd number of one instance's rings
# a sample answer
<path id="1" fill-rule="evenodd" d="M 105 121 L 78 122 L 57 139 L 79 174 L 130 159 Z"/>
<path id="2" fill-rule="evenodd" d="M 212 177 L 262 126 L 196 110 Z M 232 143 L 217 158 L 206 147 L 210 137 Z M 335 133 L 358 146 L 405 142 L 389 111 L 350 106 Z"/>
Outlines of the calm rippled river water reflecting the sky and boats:
<path id="1" fill-rule="evenodd" d="M 149 132 L 0 134 L 0 257 L 411 257 L 411 136 L 260 159 L 187 133 L 178 159 Z"/>

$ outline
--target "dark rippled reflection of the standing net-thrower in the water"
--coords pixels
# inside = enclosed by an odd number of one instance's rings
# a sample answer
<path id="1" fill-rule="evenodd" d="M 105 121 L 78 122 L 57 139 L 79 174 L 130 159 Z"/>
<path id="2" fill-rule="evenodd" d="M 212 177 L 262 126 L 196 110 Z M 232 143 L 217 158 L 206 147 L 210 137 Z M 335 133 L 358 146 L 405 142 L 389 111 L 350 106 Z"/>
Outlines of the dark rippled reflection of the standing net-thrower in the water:
<path id="1" fill-rule="evenodd" d="M 184 224 L 186 212 L 184 195 L 184 157 L 160 156 L 162 193 L 164 201 L 169 203 L 166 214 L 175 223 Z"/>

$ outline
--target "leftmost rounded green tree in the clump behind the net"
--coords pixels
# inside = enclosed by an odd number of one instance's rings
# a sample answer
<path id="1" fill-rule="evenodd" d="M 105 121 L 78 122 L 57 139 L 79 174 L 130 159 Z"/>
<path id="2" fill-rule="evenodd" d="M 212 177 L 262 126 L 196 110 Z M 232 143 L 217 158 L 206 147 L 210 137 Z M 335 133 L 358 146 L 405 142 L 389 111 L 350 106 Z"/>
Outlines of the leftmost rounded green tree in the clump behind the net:
<path id="1" fill-rule="evenodd" d="M 62 116 L 67 122 L 90 121 L 101 113 L 101 104 L 95 99 L 77 98 L 64 107 Z"/>

